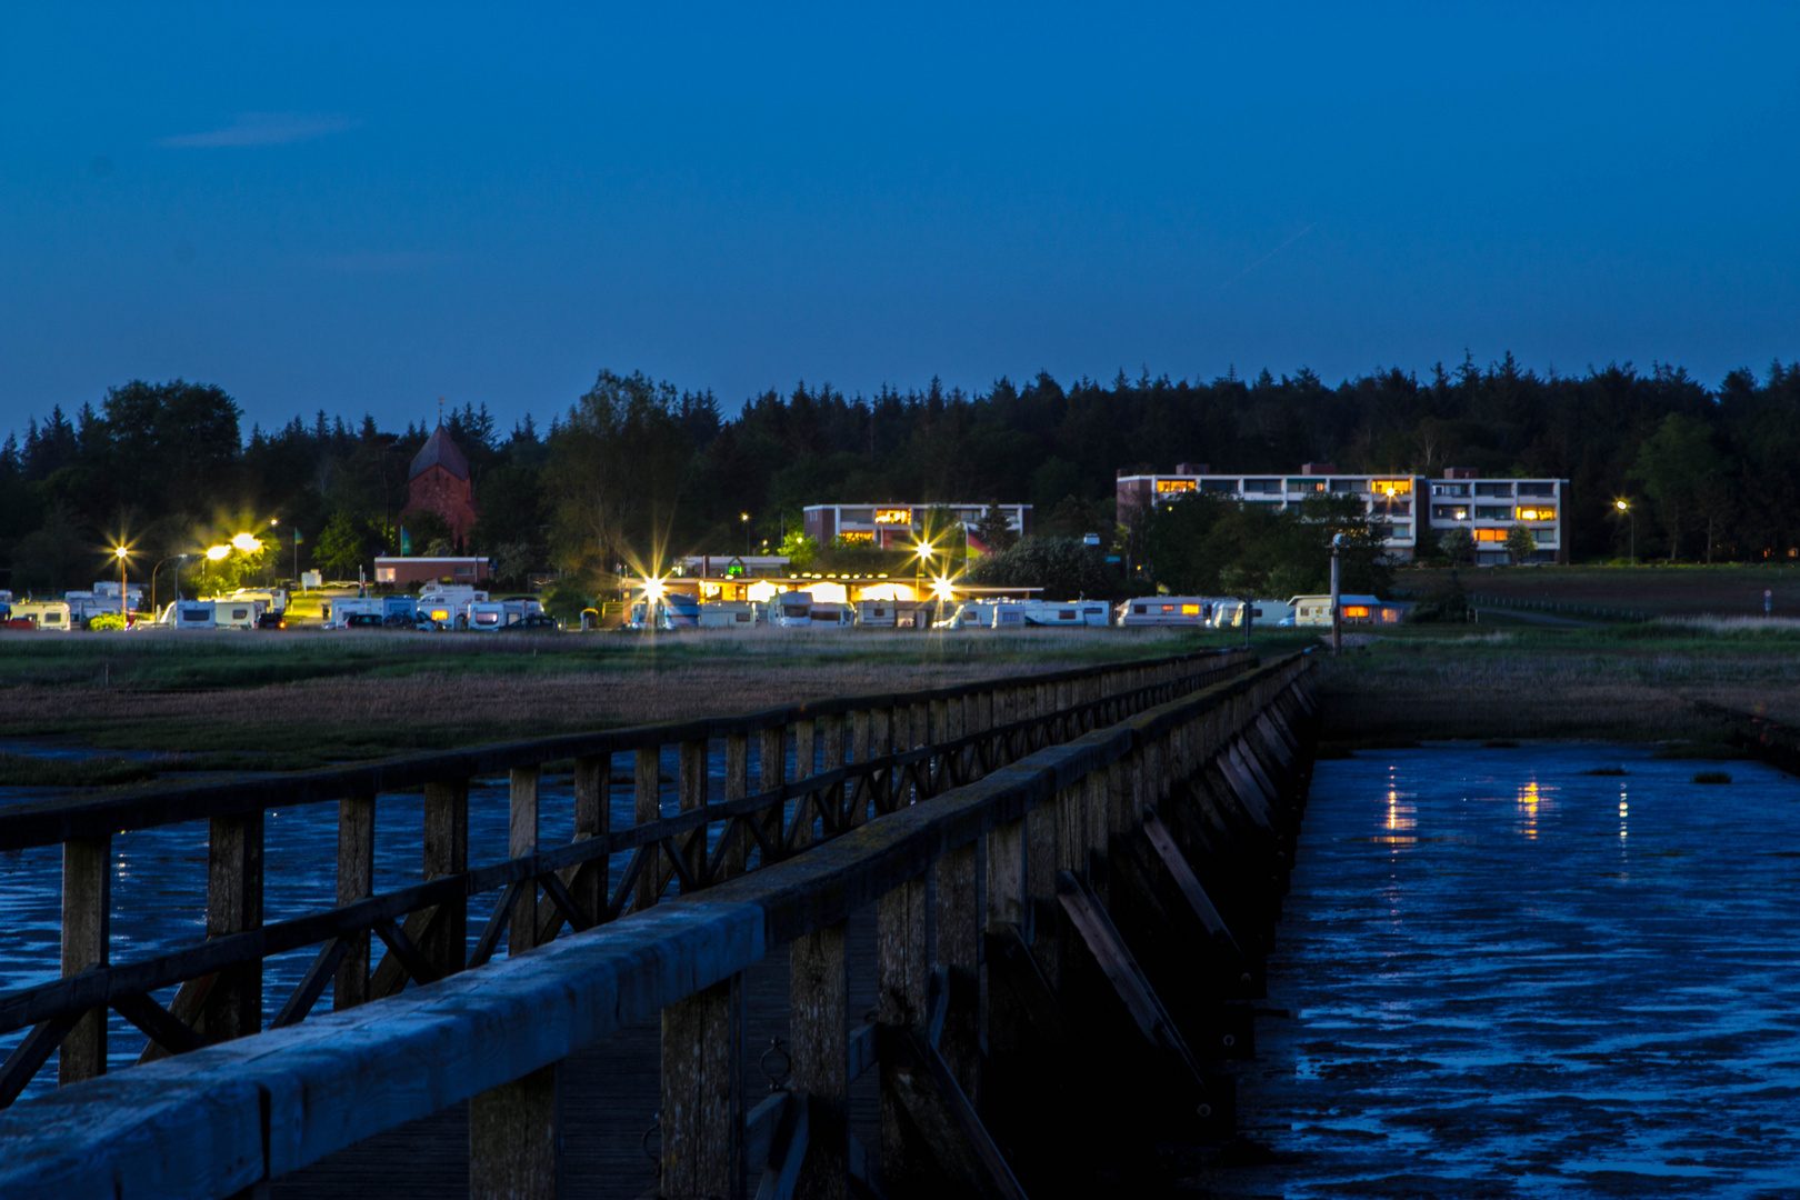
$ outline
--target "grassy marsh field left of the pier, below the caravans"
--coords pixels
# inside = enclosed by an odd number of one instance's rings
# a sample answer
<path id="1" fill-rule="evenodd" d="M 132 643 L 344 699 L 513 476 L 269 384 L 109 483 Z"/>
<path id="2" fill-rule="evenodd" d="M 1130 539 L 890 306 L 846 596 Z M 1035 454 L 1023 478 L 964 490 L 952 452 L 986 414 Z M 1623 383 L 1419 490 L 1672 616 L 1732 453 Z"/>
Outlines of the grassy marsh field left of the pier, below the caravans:
<path id="1" fill-rule="evenodd" d="M 200 756 L 189 766 L 207 770 L 301 768 L 911 691 L 1199 644 L 1165 630 L 9 633 L 0 635 L 0 739 L 74 738 L 103 748 Z M 0 761 L 0 783 L 7 781 Z"/>

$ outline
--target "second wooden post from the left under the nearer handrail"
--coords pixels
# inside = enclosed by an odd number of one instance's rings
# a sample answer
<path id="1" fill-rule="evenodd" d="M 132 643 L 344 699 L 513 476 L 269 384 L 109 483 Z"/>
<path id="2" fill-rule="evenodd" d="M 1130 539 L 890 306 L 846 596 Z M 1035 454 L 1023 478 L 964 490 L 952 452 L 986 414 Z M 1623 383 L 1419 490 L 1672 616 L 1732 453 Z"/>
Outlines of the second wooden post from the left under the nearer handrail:
<path id="1" fill-rule="evenodd" d="M 664 1196 L 742 1196 L 743 977 L 662 1009 Z"/>

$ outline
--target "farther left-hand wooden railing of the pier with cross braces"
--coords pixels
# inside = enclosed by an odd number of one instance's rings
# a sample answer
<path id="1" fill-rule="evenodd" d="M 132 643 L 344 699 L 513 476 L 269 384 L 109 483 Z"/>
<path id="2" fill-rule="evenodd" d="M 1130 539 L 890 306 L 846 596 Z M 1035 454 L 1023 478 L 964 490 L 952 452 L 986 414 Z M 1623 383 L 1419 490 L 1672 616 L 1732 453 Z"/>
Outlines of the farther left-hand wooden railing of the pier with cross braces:
<path id="1" fill-rule="evenodd" d="M 319 946 L 270 1027 L 308 1016 L 324 991 L 346 1009 L 486 964 L 502 941 L 520 954 L 567 925 L 585 930 L 650 909 L 673 883 L 693 892 L 781 862 L 868 819 L 1237 673 L 1244 651 L 1024 675 L 931 691 L 826 700 L 535 741 L 421 754 L 238 783 L 72 797 L 0 810 L 0 851 L 63 847 L 63 979 L 0 993 L 0 1034 L 29 1029 L 0 1067 L 11 1105 L 59 1051 L 58 1081 L 106 1070 L 106 1009 L 148 1036 L 139 1061 L 263 1029 L 270 955 Z M 758 779 L 751 792 L 751 743 Z M 707 757 L 722 745 L 724 795 Z M 664 817 L 662 754 L 675 750 L 679 815 Z M 787 777 L 788 750 L 796 779 Z M 621 761 L 632 763 L 630 772 Z M 540 846 L 540 783 L 572 763 L 574 840 Z M 468 860 L 470 781 L 509 781 L 508 858 Z M 374 892 L 378 797 L 425 792 L 423 880 Z M 630 788 L 635 824 L 612 828 L 612 795 Z M 337 907 L 263 921 L 265 813 L 338 806 Z M 112 963 L 113 838 L 209 822 L 203 943 Z M 612 869 L 616 855 L 628 855 Z M 320 864 L 324 867 L 324 864 Z M 475 946 L 468 900 L 500 892 Z M 369 946 L 383 957 L 369 970 Z M 180 986 L 164 1006 L 151 993 Z"/>

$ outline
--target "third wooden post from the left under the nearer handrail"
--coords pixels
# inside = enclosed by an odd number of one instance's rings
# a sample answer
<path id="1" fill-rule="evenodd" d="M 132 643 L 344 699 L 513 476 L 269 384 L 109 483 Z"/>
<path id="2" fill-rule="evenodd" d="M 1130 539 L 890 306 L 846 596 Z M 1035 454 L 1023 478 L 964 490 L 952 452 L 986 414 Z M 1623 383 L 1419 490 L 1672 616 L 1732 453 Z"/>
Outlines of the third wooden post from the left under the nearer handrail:
<path id="1" fill-rule="evenodd" d="M 826 727 L 830 730 L 830 727 Z M 830 739 L 830 732 L 826 734 Z M 830 757 L 830 748 L 826 748 Z M 826 766 L 830 770 L 830 766 Z M 841 1200 L 850 1171 L 850 957 L 848 923 L 788 945 L 788 1042 L 794 1090 L 810 1096 L 812 1133 L 796 1196 Z"/>

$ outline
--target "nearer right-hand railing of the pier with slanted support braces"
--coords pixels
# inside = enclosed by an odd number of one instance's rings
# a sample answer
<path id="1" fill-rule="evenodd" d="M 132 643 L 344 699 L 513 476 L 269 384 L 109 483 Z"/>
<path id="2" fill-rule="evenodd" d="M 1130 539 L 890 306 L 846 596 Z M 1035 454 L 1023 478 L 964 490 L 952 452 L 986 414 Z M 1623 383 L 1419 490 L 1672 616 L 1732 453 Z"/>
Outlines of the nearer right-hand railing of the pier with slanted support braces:
<path id="1" fill-rule="evenodd" d="M 0 1195 L 261 1195 L 470 1099 L 472 1193 L 553 1196 L 558 1063 L 659 1013 L 662 1196 L 1053 1191 L 1071 1182 L 1057 1157 L 1143 1097 L 1174 1106 L 1159 1135 L 1229 1105 L 1204 1063 L 1233 1034 L 1190 1042 L 1193 1002 L 1255 995 L 1255 927 L 1273 921 L 1305 797 L 1310 666 L 1292 655 L 1168 698 L 484 972 L 20 1105 L 0 1114 Z M 691 844 L 668 851 L 698 871 Z M 880 1007 L 857 1027 L 846 930 L 868 907 Z M 752 1105 L 740 981 L 781 946 L 792 1078 Z M 848 1119 L 871 1067 L 878 1151 Z"/>

